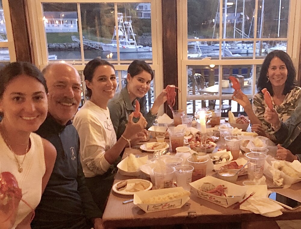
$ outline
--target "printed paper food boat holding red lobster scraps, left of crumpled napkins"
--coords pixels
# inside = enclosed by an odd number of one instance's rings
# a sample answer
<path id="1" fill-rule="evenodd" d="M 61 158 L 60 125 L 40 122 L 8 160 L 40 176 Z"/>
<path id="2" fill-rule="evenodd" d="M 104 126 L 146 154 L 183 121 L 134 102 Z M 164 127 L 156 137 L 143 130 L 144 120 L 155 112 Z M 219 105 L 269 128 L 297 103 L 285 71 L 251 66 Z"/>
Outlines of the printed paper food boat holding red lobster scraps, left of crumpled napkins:
<path id="1" fill-rule="evenodd" d="M 199 187 L 203 185 L 203 183 L 211 183 L 215 186 L 217 185 L 224 185 L 227 187 L 227 191 L 225 192 L 227 196 L 234 196 L 234 197 L 225 197 L 225 196 L 216 196 L 210 193 L 206 193 L 199 190 Z M 212 176 L 206 176 L 202 179 L 199 179 L 197 181 L 194 181 L 190 183 L 191 185 L 191 192 L 195 194 L 197 197 L 208 200 L 212 203 L 216 203 L 223 207 L 229 207 L 232 204 L 242 200 L 244 198 L 244 195 L 246 193 L 247 188 L 240 185 L 235 185 L 233 183 L 223 181 L 221 179 L 217 179 Z"/>

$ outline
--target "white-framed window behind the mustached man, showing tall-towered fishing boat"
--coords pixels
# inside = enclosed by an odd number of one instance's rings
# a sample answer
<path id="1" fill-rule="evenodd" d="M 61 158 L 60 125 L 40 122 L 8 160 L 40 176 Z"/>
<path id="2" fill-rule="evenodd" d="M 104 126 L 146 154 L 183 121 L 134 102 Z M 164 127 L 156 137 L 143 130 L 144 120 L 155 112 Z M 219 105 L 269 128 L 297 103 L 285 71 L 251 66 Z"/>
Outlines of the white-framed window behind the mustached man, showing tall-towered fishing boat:
<path id="1" fill-rule="evenodd" d="M 161 1 L 35 0 L 28 4 L 32 33 L 39 35 L 35 49 L 41 68 L 52 61 L 66 61 L 82 71 L 98 57 L 115 66 L 120 90 L 129 64 L 144 60 L 155 73 L 156 84 L 146 95 L 151 107 L 156 92 L 163 89 L 162 42 L 157 42 L 162 33 Z M 139 15 L 141 5 L 152 5 L 149 17 Z"/>

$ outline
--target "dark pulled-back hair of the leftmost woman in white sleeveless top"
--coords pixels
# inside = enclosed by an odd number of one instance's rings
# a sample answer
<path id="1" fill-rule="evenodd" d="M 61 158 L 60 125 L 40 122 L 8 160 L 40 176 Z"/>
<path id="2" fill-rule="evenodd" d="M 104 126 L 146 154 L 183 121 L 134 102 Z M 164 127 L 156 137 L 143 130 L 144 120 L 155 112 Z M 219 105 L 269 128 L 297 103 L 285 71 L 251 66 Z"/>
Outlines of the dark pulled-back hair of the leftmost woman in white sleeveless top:
<path id="1" fill-rule="evenodd" d="M 2 98 L 7 85 L 14 78 L 23 74 L 39 81 L 44 86 L 45 92 L 48 93 L 45 78 L 36 66 L 28 62 L 12 62 L 0 70 L 0 98 Z"/>

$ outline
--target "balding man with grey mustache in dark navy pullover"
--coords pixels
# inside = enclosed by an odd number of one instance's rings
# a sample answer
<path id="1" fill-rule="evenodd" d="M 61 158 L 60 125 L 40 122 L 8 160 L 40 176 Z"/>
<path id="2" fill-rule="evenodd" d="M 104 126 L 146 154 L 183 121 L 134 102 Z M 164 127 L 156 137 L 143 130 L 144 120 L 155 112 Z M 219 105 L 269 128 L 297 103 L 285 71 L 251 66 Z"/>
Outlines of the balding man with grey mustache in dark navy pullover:
<path id="1" fill-rule="evenodd" d="M 81 79 L 65 63 L 44 70 L 48 87 L 48 116 L 37 133 L 57 150 L 54 169 L 32 222 L 32 228 L 103 228 L 101 211 L 85 185 L 79 160 L 79 136 L 70 119 L 81 101 Z"/>

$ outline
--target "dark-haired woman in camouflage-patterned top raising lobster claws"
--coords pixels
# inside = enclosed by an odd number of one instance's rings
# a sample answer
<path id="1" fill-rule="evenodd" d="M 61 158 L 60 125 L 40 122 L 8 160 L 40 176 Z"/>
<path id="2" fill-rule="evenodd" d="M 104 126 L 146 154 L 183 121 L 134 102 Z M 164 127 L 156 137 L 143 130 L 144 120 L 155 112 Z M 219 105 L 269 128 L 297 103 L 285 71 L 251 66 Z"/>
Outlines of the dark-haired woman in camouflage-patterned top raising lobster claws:
<path id="1" fill-rule="evenodd" d="M 269 53 L 262 64 L 257 90 L 251 105 L 247 96 L 241 90 L 235 91 L 232 99 L 244 107 L 251 124 L 252 131 L 261 136 L 275 140 L 274 130 L 264 119 L 267 107 L 261 90 L 266 88 L 272 96 L 273 107 L 282 121 L 290 117 L 298 104 L 301 88 L 295 84 L 296 70 L 290 56 L 281 50 Z"/>

